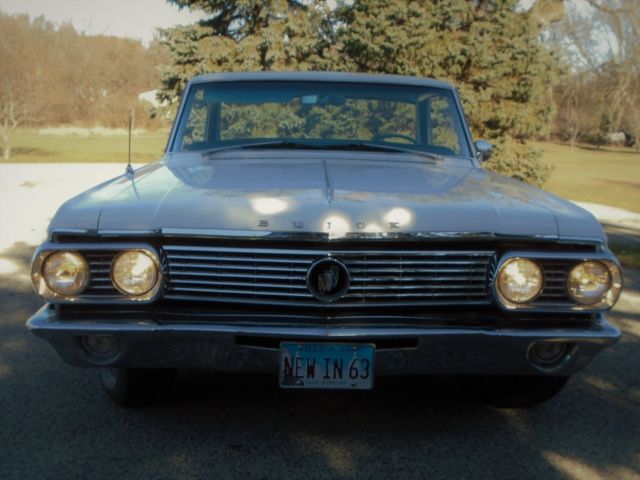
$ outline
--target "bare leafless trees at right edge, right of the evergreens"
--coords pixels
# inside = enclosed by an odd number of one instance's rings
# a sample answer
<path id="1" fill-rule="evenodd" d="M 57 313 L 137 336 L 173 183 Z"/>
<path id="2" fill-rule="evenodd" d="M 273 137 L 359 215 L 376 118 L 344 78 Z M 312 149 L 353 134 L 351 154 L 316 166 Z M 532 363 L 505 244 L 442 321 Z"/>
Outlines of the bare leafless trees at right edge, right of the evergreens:
<path id="1" fill-rule="evenodd" d="M 549 35 L 566 61 L 554 88 L 556 133 L 573 144 L 623 131 L 640 148 L 638 0 L 566 2 L 565 11 Z"/>

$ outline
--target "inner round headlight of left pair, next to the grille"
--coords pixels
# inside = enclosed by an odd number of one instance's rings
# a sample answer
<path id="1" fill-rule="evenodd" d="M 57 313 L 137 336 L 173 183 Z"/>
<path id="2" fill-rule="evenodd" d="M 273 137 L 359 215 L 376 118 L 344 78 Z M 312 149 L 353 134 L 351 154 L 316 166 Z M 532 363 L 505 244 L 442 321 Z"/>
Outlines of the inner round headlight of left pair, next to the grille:
<path id="1" fill-rule="evenodd" d="M 158 268 L 149 253 L 129 250 L 119 254 L 111 265 L 114 285 L 125 295 L 149 293 L 158 281 Z"/>

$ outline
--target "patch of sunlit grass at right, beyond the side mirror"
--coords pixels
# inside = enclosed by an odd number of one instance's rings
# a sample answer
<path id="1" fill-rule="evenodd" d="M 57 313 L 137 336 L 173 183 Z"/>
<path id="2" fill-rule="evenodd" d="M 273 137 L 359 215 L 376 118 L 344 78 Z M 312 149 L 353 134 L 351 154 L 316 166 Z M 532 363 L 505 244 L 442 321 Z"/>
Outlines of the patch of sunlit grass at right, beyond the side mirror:
<path id="1" fill-rule="evenodd" d="M 640 212 L 640 154 L 632 149 L 534 143 L 554 169 L 544 188 L 571 200 Z"/>

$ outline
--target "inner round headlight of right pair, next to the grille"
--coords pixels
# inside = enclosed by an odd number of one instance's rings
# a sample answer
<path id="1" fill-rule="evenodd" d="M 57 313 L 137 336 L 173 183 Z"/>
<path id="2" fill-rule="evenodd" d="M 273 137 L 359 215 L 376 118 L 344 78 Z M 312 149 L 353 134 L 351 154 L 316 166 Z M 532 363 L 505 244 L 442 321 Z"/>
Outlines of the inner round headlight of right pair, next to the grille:
<path id="1" fill-rule="evenodd" d="M 530 302 L 542 291 L 543 283 L 540 266 L 526 258 L 511 258 L 498 272 L 498 291 L 512 303 Z"/>

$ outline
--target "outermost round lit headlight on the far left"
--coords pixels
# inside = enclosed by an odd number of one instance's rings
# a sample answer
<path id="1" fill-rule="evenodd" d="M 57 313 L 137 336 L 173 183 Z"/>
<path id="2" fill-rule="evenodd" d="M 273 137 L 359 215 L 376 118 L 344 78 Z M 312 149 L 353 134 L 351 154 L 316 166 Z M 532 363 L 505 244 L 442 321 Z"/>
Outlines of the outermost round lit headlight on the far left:
<path id="1" fill-rule="evenodd" d="M 55 252 L 44 261 L 42 277 L 53 292 L 77 295 L 89 284 L 89 265 L 79 253 Z"/>

